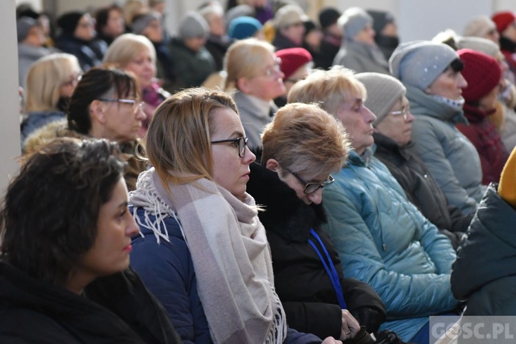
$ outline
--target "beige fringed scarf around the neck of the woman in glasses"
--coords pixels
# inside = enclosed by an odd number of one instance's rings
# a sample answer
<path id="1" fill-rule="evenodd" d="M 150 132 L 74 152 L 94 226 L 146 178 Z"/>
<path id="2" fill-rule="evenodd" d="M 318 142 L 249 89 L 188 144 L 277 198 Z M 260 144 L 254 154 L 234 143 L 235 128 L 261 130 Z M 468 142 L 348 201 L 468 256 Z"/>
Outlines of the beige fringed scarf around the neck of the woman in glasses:
<path id="1" fill-rule="evenodd" d="M 197 183 L 169 184 L 170 197 L 154 169 L 141 173 L 130 202 L 156 220 L 151 223 L 147 215 L 140 225 L 151 228 L 158 241 L 168 240 L 159 222 L 177 214 L 215 343 L 283 343 L 286 317 L 255 200 L 248 194 L 239 200 L 211 180 Z"/>

